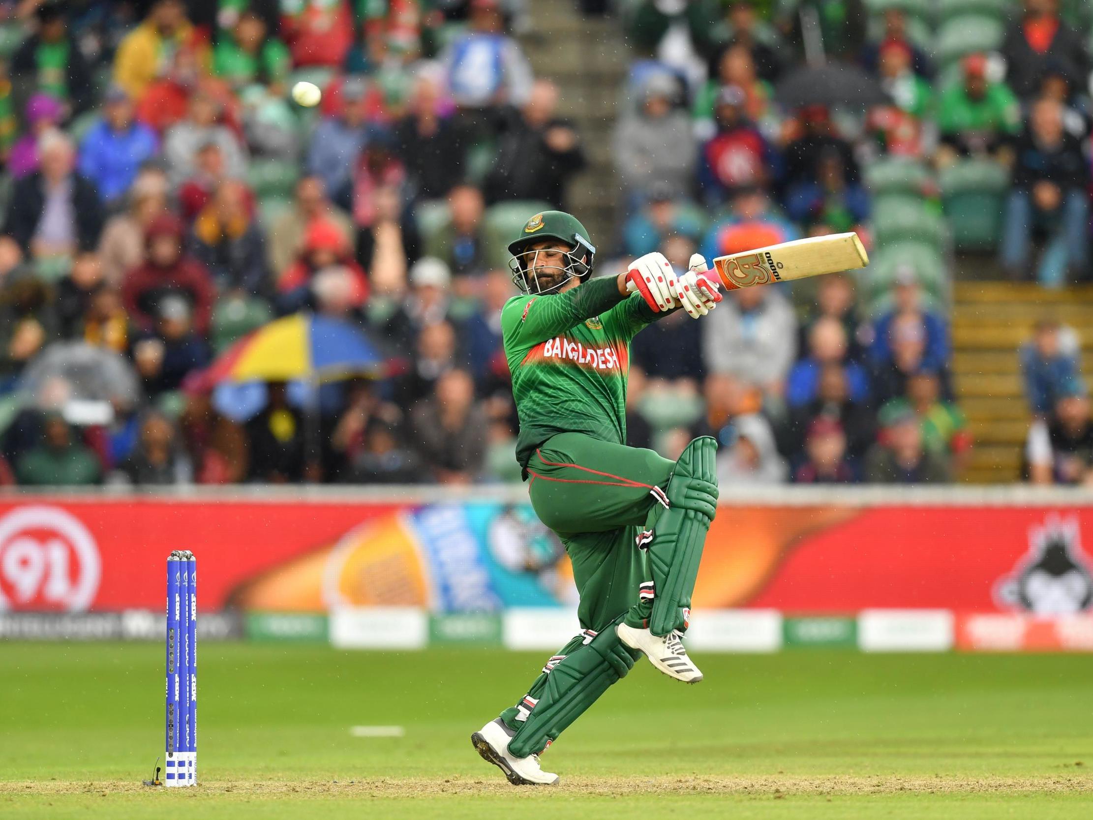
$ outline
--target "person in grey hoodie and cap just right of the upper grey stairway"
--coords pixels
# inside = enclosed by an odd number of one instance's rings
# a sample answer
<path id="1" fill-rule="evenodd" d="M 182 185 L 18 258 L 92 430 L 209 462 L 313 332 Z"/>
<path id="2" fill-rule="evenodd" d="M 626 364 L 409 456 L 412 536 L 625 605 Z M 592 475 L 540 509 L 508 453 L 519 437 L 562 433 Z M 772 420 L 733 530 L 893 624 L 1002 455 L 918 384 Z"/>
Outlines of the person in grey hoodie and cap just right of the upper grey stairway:
<path id="1" fill-rule="evenodd" d="M 685 191 L 694 178 L 694 136 L 686 114 L 675 106 L 677 93 L 670 74 L 650 73 L 637 110 L 624 114 L 615 126 L 614 162 L 627 213 L 646 199 L 655 183 Z"/>

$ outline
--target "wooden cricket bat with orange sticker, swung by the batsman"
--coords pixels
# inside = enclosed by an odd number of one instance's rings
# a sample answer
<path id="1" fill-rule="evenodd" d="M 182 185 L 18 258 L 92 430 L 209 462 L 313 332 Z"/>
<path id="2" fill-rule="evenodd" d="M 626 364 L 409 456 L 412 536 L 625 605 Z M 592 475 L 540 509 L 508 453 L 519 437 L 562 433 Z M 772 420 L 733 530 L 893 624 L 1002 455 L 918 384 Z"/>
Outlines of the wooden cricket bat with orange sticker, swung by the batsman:
<path id="1" fill-rule="evenodd" d="M 742 254 L 719 256 L 713 262 L 718 279 L 729 291 L 771 282 L 791 282 L 865 268 L 867 265 L 869 256 L 854 232 L 794 239 Z"/>

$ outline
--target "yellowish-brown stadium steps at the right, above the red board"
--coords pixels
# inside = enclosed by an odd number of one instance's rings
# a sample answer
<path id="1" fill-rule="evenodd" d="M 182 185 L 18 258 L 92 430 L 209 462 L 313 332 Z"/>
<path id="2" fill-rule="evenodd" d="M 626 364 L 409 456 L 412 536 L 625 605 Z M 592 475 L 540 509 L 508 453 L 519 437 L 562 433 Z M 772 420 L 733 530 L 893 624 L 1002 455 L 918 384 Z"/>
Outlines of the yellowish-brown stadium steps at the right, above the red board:
<path id="1" fill-rule="evenodd" d="M 956 282 L 953 304 L 953 379 L 974 447 L 963 480 L 1018 481 L 1031 414 L 1021 385 L 1018 347 L 1037 319 L 1074 328 L 1084 373 L 1093 363 L 1093 286 L 1047 291 L 1035 284 Z"/>

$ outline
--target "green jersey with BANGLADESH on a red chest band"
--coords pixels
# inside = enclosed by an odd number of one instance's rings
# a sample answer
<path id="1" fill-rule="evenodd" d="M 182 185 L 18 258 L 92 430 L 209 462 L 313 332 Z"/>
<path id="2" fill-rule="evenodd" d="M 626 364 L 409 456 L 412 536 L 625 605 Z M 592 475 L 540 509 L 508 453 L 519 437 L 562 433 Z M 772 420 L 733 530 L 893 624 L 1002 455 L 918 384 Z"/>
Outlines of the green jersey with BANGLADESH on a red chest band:
<path id="1" fill-rule="evenodd" d="M 626 443 L 630 340 L 658 316 L 639 295 L 621 296 L 614 277 L 505 303 L 501 328 L 520 419 L 521 467 L 557 433 Z"/>

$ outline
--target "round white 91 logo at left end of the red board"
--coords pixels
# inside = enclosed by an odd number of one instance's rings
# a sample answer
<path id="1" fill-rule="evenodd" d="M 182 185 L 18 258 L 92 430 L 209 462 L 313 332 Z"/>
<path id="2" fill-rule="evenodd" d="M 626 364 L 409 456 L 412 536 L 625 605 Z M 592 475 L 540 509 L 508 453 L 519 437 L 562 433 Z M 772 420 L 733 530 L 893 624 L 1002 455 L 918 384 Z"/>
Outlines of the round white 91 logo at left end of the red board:
<path id="1" fill-rule="evenodd" d="M 98 544 L 60 507 L 16 507 L 0 518 L 0 612 L 82 612 L 98 591 Z"/>

